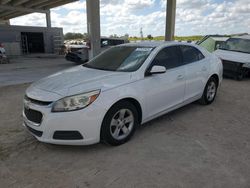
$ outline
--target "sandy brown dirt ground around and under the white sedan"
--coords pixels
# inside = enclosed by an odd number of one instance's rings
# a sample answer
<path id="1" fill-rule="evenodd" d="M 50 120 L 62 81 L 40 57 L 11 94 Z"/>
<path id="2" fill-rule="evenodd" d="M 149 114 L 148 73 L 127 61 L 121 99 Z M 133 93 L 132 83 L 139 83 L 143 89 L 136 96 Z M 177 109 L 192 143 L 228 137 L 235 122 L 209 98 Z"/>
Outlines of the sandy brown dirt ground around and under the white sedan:
<path id="1" fill-rule="evenodd" d="M 0 88 L 0 187 L 250 187 L 250 80 L 224 80 L 214 104 L 162 116 L 119 147 L 39 143 L 22 127 L 27 86 Z"/>

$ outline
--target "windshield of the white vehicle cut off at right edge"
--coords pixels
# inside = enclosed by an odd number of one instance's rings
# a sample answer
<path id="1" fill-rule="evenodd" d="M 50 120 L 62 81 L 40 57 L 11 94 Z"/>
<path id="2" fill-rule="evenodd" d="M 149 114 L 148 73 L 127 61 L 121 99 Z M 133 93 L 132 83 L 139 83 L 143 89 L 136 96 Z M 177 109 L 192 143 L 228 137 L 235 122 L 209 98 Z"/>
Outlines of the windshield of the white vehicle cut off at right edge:
<path id="1" fill-rule="evenodd" d="M 250 40 L 231 38 L 221 46 L 222 50 L 250 53 Z"/>

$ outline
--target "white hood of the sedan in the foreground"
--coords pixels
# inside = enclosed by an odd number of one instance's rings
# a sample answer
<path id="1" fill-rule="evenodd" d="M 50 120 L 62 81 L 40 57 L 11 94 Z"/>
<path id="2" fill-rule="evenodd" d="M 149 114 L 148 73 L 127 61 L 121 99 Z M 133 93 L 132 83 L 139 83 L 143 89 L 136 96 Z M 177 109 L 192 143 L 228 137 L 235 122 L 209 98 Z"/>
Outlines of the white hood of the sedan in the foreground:
<path id="1" fill-rule="evenodd" d="M 90 69 L 82 65 L 58 72 L 33 83 L 26 91 L 27 96 L 44 101 L 57 100 L 97 89 L 105 91 L 132 81 L 131 73 Z M 43 91 L 41 94 L 41 91 Z M 39 94 L 38 94 L 39 93 Z M 53 97 L 51 94 L 53 93 Z M 46 101 L 46 100 L 45 100 Z"/>

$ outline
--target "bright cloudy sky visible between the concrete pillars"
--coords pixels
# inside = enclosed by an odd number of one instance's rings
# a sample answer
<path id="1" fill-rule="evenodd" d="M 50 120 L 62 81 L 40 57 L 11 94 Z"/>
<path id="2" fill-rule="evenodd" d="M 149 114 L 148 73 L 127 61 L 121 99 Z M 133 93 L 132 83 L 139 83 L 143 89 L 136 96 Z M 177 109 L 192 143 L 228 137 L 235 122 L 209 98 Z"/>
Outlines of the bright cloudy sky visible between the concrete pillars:
<path id="1" fill-rule="evenodd" d="M 101 35 L 163 36 L 166 0 L 100 0 Z M 51 10 L 52 27 L 86 33 L 86 1 Z M 44 14 L 12 19 L 12 25 L 46 26 Z M 250 0 L 177 0 L 176 35 L 250 33 Z"/>

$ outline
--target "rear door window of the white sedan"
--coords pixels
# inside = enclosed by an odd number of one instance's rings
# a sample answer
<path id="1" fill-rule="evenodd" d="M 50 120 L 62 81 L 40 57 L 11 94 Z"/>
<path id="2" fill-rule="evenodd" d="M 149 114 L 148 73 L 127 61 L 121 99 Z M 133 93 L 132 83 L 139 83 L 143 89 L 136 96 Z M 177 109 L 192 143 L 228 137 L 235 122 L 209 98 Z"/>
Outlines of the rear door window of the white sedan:
<path id="1" fill-rule="evenodd" d="M 193 63 L 205 58 L 205 56 L 195 47 L 180 46 L 180 48 L 182 51 L 184 64 Z"/>

